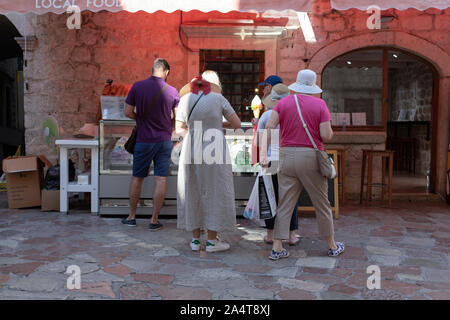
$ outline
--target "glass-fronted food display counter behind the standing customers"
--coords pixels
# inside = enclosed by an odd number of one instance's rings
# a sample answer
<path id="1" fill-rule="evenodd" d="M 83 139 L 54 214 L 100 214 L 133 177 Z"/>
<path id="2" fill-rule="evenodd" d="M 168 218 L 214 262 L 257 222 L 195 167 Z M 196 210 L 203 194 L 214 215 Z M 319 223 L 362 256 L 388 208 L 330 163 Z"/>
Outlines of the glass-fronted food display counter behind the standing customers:
<path id="1" fill-rule="evenodd" d="M 133 169 L 133 155 L 125 148 L 135 121 L 133 120 L 102 120 L 99 125 L 99 213 L 100 215 L 128 215 L 129 188 Z M 258 166 L 251 165 L 252 127 L 243 123 L 241 130 L 224 130 L 230 160 L 234 174 L 234 190 L 236 214 L 242 215 L 248 200 Z M 179 136 L 172 135 L 174 148 L 172 151 L 169 177 L 166 182 L 166 199 L 161 215 L 176 215 L 177 205 L 177 174 L 178 160 L 181 151 Z M 153 165 L 149 177 L 142 185 L 141 201 L 136 211 L 137 215 L 150 215 L 152 212 L 152 197 L 154 191 Z"/>

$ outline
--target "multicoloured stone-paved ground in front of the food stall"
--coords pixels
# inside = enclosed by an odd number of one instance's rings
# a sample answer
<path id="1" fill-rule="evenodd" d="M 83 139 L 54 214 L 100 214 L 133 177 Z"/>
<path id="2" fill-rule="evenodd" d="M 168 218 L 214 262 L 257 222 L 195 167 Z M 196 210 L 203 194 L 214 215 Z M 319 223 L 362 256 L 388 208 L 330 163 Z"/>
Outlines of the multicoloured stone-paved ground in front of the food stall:
<path id="1" fill-rule="evenodd" d="M 123 226 L 87 212 L 0 209 L 0 299 L 450 299 L 450 210 L 439 203 L 342 208 L 336 239 L 346 251 L 326 256 L 314 216 L 300 217 L 291 257 L 270 261 L 265 230 L 245 219 L 221 237 L 231 249 L 190 250 L 191 234 L 161 219 Z M 68 290 L 67 268 L 81 270 Z M 381 289 L 367 289 L 378 265 Z"/>

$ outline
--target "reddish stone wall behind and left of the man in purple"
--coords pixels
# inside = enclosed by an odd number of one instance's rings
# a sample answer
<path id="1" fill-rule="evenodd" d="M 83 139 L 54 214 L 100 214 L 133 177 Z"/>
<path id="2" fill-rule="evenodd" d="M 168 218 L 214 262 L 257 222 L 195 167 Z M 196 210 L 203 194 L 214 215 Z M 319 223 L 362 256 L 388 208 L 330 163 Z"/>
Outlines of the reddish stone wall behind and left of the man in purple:
<path id="1" fill-rule="evenodd" d="M 36 20 L 38 40 L 26 69 L 30 154 L 44 152 L 55 161 L 54 148 L 43 144 L 43 122 L 55 118 L 66 136 L 95 122 L 107 79 L 132 84 L 149 77 L 153 61 L 164 57 L 171 65 L 168 82 L 176 88 L 187 82 L 176 13 L 84 12 L 80 30 L 68 30 L 65 15 L 46 14 Z"/>

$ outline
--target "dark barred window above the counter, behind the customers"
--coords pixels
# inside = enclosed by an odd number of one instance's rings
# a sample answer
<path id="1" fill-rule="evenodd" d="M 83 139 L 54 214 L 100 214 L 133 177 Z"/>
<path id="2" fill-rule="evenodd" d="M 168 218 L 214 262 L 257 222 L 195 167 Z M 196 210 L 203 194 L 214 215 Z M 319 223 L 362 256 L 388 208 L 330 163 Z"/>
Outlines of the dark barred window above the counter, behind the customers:
<path id="1" fill-rule="evenodd" d="M 251 121 L 250 104 L 264 81 L 264 51 L 201 50 L 200 73 L 205 70 L 219 74 L 223 96 L 242 121 Z"/>

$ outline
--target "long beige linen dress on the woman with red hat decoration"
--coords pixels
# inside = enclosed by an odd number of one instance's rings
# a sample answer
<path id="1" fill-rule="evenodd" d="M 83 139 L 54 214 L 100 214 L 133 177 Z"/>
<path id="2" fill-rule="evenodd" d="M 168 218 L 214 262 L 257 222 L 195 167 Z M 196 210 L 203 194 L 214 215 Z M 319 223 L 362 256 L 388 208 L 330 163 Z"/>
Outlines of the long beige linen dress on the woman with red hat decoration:
<path id="1" fill-rule="evenodd" d="M 222 116 L 228 118 L 235 111 L 221 94 L 210 92 L 202 96 L 188 122 L 201 93 L 183 96 L 176 115 L 176 120 L 189 128 L 178 165 L 177 226 L 187 231 L 233 230 L 236 227 L 233 172 Z"/>

